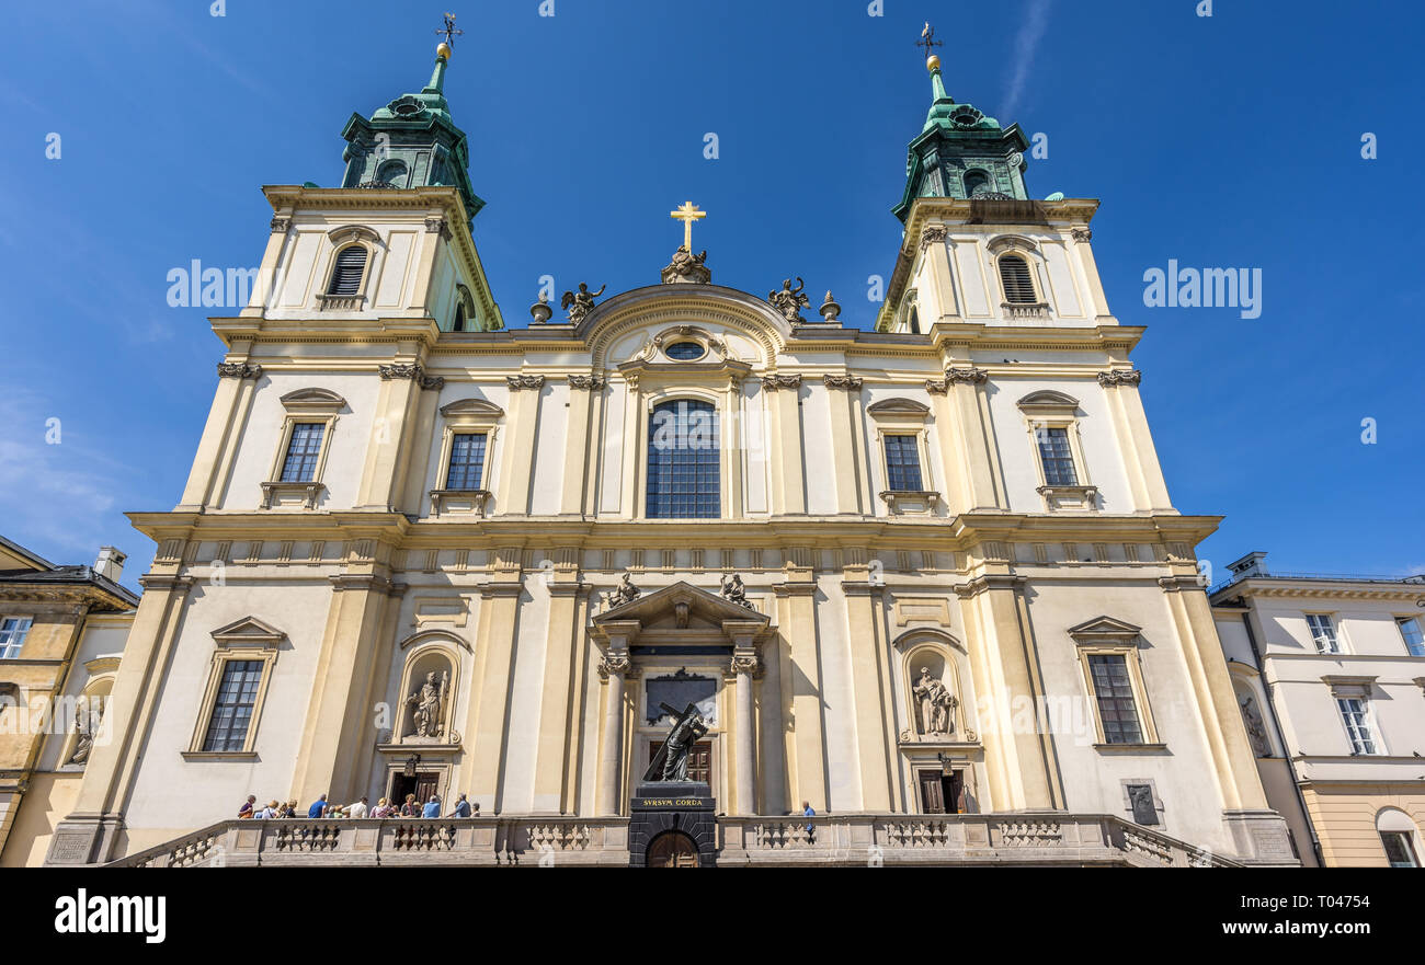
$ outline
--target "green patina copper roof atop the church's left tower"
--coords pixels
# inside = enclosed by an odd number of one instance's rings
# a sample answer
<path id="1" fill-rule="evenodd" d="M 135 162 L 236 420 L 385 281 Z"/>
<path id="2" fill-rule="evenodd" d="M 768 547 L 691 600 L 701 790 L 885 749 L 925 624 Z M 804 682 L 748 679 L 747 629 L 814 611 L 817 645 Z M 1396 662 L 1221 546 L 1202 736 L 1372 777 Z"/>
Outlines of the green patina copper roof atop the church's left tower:
<path id="1" fill-rule="evenodd" d="M 351 115 L 342 128 L 343 188 L 449 185 L 460 192 L 470 218 L 484 206 L 470 184 L 470 142 L 445 98 L 447 64 L 436 58 L 430 83 L 419 94 L 402 94 L 370 118 Z"/>

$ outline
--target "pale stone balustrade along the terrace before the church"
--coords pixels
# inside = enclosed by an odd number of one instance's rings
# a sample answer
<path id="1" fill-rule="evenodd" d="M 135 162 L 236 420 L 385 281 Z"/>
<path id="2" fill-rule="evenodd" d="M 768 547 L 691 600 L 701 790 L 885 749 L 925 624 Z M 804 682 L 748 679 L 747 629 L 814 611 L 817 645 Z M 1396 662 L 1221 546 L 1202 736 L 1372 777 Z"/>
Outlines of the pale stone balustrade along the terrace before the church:
<path id="1" fill-rule="evenodd" d="M 807 824 L 812 833 L 807 833 Z M 1107 814 L 720 817 L 720 865 L 1240 867 Z M 229 820 L 110 867 L 628 864 L 624 817 Z"/>

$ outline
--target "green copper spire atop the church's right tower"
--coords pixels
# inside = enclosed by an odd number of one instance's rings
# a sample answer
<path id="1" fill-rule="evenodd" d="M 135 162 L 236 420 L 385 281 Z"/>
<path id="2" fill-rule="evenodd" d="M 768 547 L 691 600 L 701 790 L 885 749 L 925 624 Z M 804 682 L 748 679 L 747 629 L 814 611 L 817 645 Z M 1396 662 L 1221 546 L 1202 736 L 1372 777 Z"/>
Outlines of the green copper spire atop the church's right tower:
<path id="1" fill-rule="evenodd" d="M 925 70 L 931 74 L 931 110 L 925 127 L 911 141 L 906 184 L 892 213 L 903 223 L 916 198 L 983 198 L 1027 201 L 1025 157 L 1029 141 L 1017 124 L 1002 128 L 970 104 L 956 104 L 945 90 L 935 27 L 921 31 L 916 47 L 925 47 Z"/>

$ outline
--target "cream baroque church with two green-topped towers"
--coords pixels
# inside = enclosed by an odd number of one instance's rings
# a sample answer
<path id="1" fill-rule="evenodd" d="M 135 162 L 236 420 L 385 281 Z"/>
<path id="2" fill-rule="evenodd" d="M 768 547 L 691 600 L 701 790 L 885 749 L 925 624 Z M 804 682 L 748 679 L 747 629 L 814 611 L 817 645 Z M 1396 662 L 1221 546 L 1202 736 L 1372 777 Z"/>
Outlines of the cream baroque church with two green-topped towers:
<path id="1" fill-rule="evenodd" d="M 1032 199 L 1017 125 L 932 53 L 874 330 L 715 283 L 693 204 L 661 276 L 507 327 L 449 64 L 352 115 L 341 186 L 264 188 L 46 863 L 1297 864 L 1099 202 Z M 650 843 L 688 705 L 715 820 Z M 477 814 L 237 820 L 249 793 Z"/>

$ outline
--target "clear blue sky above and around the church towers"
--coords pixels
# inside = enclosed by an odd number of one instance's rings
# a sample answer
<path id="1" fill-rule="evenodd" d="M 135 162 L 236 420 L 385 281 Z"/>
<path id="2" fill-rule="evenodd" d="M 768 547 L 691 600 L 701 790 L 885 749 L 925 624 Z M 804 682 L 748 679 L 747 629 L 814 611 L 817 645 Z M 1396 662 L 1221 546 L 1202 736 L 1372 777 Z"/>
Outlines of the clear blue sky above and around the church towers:
<path id="1" fill-rule="evenodd" d="M 455 3 L 455 0 L 449 0 Z M 1094 252 L 1174 504 L 1226 521 L 1214 576 L 1425 571 L 1415 3 L 539 0 L 456 10 L 446 83 L 510 325 L 559 290 L 657 279 L 691 198 L 714 280 L 801 275 L 869 326 L 905 145 L 946 85 L 1026 134 L 1032 196 L 1102 198 Z M 152 557 L 123 517 L 180 498 L 221 343 L 167 273 L 256 265 L 262 184 L 342 174 L 339 131 L 429 77 L 443 7 L 16 4 L 0 37 L 0 532 L 56 562 Z M 60 158 L 46 138 L 61 137 Z M 705 159 L 704 135 L 720 157 Z M 1362 134 L 1378 158 L 1361 157 Z M 1168 259 L 1263 273 L 1263 312 L 1147 307 Z M 58 444 L 47 444 L 58 418 Z M 1377 441 L 1362 443 L 1374 418 Z"/>

